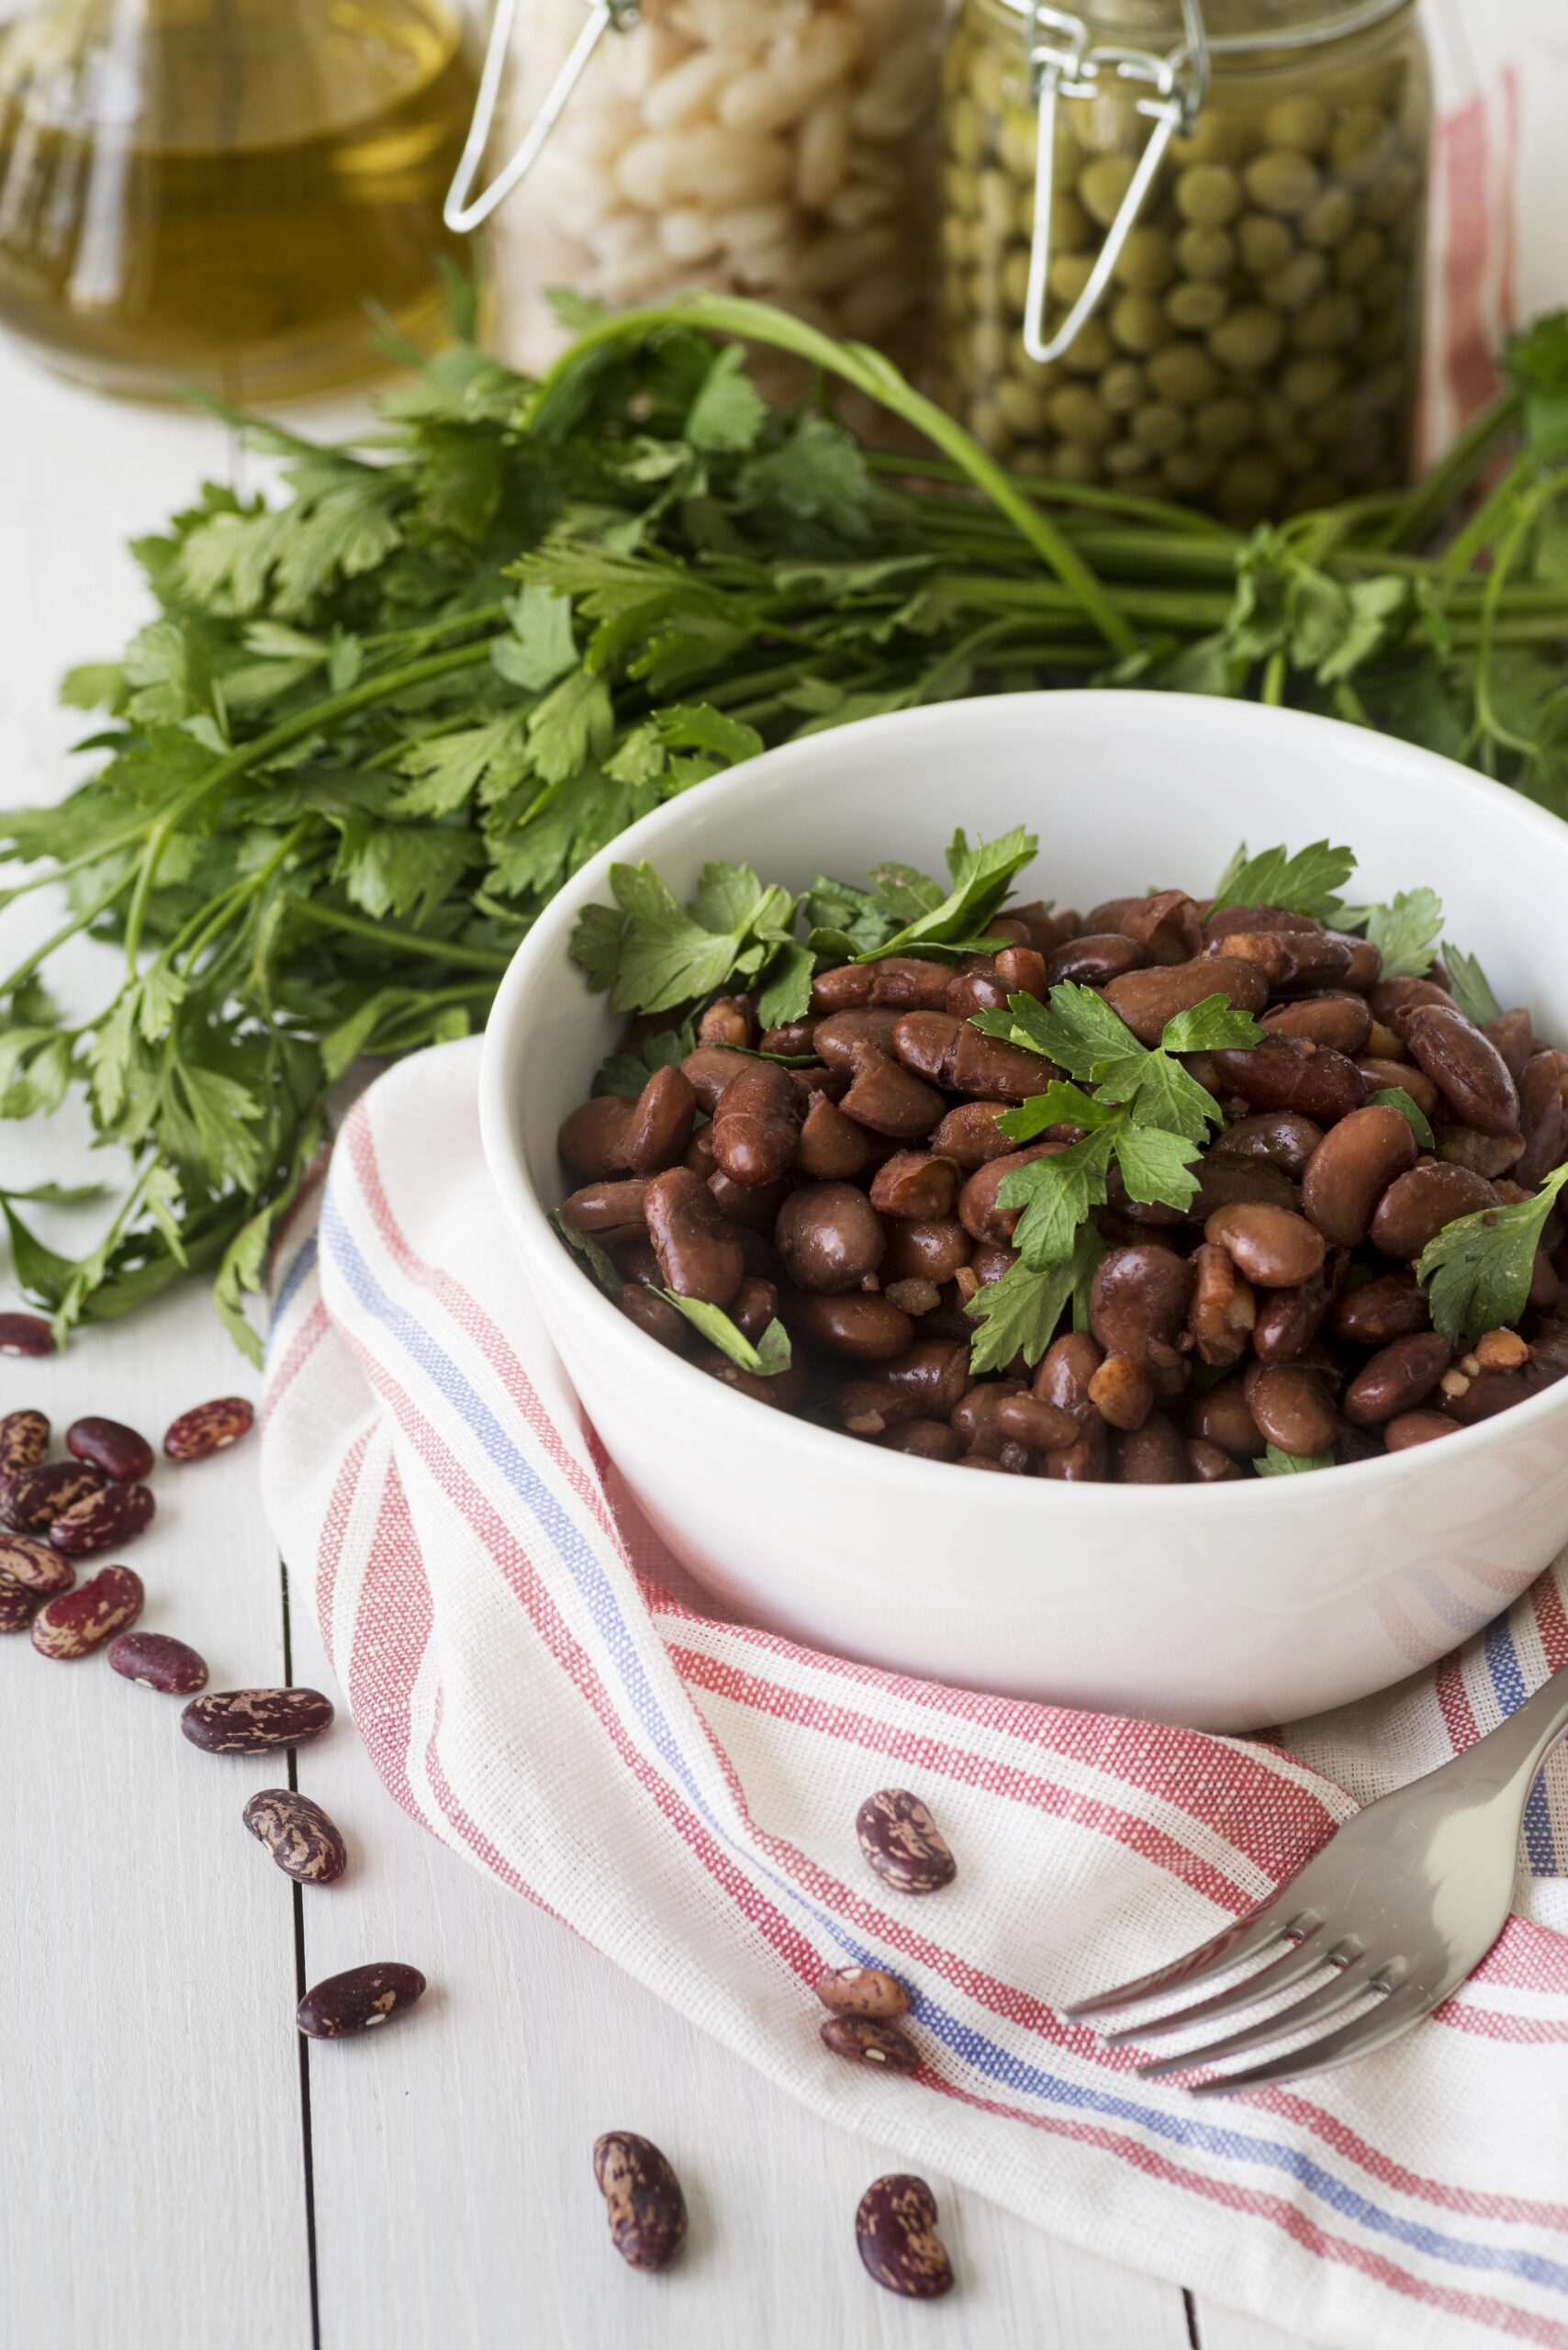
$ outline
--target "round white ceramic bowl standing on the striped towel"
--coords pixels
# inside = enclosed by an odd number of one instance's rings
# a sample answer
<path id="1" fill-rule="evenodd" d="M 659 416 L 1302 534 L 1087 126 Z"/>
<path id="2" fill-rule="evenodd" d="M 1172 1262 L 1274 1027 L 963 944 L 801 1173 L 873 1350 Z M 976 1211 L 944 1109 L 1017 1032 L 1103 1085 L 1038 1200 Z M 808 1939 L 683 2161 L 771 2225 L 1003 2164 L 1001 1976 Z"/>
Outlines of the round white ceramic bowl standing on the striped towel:
<path id="1" fill-rule="evenodd" d="M 1213 888 L 1237 841 L 1328 834 L 1354 893 L 1429 884 L 1502 1003 L 1568 1036 L 1568 825 L 1328 719 L 1143 693 L 1030 693 L 769 752 L 625 832 L 552 900 L 489 1022 L 484 1152 L 567 1370 L 649 1518 L 752 1622 L 940 1680 L 1251 1730 L 1385 1687 L 1497 1614 L 1568 1537 L 1568 1382 L 1387 1459 L 1234 1485 L 961 1476 L 736 1396 L 635 1330 L 545 1222 L 555 1133 L 618 1022 L 567 942 L 646 858 L 802 888 L 954 825 L 1027 822 L 1020 898 Z"/>

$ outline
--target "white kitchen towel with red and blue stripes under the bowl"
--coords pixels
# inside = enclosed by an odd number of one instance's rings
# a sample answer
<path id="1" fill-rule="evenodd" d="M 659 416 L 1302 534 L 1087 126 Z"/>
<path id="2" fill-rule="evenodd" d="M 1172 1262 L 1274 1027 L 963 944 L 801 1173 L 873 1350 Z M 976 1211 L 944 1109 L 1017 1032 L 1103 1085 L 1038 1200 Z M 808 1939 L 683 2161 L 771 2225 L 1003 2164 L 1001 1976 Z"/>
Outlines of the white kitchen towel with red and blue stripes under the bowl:
<path id="1" fill-rule="evenodd" d="M 1561 1777 L 1481 1974 L 1361 2066 L 1197 2106 L 1058 2005 L 1213 1934 L 1356 1800 L 1490 1727 L 1568 1657 L 1561 1574 L 1434 1673 L 1269 1741 L 722 1622 L 550 1351 L 477 1060 L 442 1046 L 360 1100 L 275 1285 L 268 1513 L 397 1802 L 912 2169 L 1335 2350 L 1568 2350 Z M 860 1859 L 856 1807 L 889 1784 L 957 1854 L 931 1899 Z M 912 1986 L 914 2077 L 820 2044 L 811 1983 L 846 1962 Z"/>

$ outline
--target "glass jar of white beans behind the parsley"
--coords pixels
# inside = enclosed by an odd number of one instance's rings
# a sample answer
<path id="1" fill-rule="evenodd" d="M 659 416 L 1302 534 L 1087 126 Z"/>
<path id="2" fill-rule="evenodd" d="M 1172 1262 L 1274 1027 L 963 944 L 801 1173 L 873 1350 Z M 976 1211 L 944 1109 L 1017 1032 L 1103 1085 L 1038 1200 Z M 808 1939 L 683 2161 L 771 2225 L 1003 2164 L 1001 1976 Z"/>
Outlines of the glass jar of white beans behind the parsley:
<path id="1" fill-rule="evenodd" d="M 581 80 L 496 216 L 503 355 L 569 341 L 557 287 L 621 308 L 755 294 L 905 367 L 929 350 L 943 0 L 607 7 Z M 524 0 L 501 103 L 527 139 L 583 0 Z"/>

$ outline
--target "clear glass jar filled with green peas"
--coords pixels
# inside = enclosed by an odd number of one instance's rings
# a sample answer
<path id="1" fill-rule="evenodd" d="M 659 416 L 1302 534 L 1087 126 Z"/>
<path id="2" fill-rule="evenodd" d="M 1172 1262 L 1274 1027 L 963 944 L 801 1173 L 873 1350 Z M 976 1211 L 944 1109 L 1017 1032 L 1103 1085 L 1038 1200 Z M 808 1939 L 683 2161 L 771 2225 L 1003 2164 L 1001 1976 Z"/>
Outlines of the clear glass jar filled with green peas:
<path id="1" fill-rule="evenodd" d="M 1237 526 L 1401 484 L 1429 146 L 1415 0 L 961 0 L 945 404 Z"/>

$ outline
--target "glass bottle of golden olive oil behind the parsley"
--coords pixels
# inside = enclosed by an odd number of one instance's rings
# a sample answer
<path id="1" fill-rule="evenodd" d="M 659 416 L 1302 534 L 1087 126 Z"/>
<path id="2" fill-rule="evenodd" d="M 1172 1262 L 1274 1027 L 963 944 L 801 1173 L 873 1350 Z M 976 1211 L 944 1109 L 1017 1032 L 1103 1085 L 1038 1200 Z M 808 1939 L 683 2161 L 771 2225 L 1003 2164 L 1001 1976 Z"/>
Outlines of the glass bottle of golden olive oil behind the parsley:
<path id="1" fill-rule="evenodd" d="M 0 327 L 87 383 L 244 404 L 442 327 L 458 0 L 42 0 L 0 24 Z"/>

